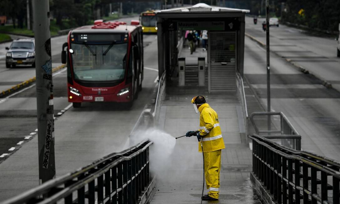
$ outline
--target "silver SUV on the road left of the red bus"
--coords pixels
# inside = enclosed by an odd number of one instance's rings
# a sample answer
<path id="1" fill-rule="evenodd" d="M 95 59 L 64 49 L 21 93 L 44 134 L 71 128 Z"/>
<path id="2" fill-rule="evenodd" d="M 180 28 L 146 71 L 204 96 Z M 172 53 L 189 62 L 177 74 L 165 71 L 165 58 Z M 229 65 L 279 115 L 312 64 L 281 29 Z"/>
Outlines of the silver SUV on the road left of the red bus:
<path id="1" fill-rule="evenodd" d="M 31 65 L 35 67 L 35 46 L 34 39 L 13 40 L 11 46 L 6 47 L 6 67 L 17 65 Z"/>

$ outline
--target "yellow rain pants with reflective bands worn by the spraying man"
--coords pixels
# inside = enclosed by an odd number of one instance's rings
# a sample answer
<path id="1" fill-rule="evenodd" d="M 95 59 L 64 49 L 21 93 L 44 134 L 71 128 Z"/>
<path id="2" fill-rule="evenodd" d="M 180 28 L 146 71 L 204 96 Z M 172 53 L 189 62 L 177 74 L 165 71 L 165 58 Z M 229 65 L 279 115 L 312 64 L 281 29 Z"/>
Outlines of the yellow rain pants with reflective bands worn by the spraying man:
<path id="1" fill-rule="evenodd" d="M 205 183 L 208 195 L 218 199 L 220 188 L 221 150 L 204 152 Z"/>

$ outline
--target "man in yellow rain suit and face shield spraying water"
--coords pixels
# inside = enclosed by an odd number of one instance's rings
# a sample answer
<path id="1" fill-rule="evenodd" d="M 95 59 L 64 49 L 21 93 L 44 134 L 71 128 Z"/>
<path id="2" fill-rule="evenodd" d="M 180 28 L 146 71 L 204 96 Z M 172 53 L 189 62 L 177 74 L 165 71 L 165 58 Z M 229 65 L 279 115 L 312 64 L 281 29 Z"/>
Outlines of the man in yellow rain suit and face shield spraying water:
<path id="1" fill-rule="evenodd" d="M 208 190 L 208 194 L 204 195 L 202 200 L 216 201 L 220 188 L 221 150 L 225 148 L 218 115 L 206 103 L 204 96 L 193 97 L 191 103 L 195 112 L 200 112 L 199 134 L 203 150 L 199 142 L 198 151 L 203 151 L 204 154 L 205 182 Z M 186 136 L 190 137 L 193 132 L 196 131 L 189 131 Z"/>

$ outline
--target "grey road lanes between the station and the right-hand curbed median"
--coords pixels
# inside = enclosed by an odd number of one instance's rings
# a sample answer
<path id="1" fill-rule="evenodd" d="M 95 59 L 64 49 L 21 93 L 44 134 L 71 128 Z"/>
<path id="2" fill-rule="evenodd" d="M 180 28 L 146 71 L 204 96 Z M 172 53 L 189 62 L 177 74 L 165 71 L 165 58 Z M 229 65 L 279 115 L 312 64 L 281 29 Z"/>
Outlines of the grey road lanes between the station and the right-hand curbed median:
<path id="1" fill-rule="evenodd" d="M 282 57 L 274 53 L 270 57 L 272 111 L 283 112 L 288 117 L 302 136 L 303 150 L 339 160 L 340 93 L 327 89 L 320 79 L 302 73 Z M 244 75 L 265 110 L 266 72 L 266 50 L 246 37 Z"/>

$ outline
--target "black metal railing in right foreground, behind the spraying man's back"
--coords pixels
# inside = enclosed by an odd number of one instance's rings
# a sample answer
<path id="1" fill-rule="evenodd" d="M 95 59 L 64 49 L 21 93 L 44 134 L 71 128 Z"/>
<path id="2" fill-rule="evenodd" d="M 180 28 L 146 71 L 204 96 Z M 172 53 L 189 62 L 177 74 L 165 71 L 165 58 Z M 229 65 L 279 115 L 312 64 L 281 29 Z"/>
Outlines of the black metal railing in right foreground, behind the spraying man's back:
<path id="1" fill-rule="evenodd" d="M 340 163 L 259 135 L 249 137 L 253 140 L 253 172 L 275 203 L 340 203 Z"/>

